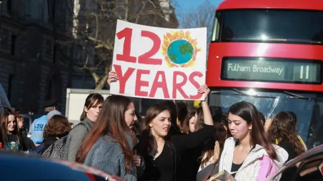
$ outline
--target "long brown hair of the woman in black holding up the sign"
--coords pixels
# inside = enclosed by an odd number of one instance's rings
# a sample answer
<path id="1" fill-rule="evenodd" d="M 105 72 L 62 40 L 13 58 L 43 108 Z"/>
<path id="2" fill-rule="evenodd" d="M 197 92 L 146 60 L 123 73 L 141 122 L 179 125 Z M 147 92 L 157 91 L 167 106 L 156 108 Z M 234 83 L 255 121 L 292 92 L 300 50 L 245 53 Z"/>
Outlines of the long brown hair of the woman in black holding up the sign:
<path id="1" fill-rule="evenodd" d="M 139 143 L 137 146 L 138 147 L 137 150 L 140 154 L 145 156 L 152 149 L 152 145 L 150 145 L 150 142 L 152 142 L 152 137 L 149 136 L 149 132 L 150 132 L 149 123 L 164 111 L 170 112 L 169 108 L 166 105 L 157 104 L 157 105 L 151 106 L 146 112 L 146 116 L 143 119 L 144 121 L 142 124 L 142 135 L 140 136 Z"/>

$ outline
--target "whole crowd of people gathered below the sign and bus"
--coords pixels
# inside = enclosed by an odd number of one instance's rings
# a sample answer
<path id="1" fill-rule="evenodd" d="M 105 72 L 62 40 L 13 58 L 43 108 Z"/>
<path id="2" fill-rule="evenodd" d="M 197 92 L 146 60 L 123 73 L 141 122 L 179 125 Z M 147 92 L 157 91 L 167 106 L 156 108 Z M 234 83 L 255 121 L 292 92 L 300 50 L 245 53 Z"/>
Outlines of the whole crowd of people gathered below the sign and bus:
<path id="1" fill-rule="evenodd" d="M 110 82 L 116 79 L 110 75 Z M 237 180 L 266 180 L 306 151 L 294 113 L 265 120 L 244 101 L 223 113 L 209 108 L 206 85 L 198 92 L 205 100 L 197 110 L 166 100 L 144 118 L 127 97 L 90 94 L 79 124 L 72 128 L 55 106 L 47 107 L 47 115 L 33 122 L 31 139 L 21 131 L 19 117 L 6 111 L 0 142 L 3 149 L 76 161 L 125 180 L 205 181 L 223 170 Z M 288 180 L 288 172 L 279 179 Z"/>

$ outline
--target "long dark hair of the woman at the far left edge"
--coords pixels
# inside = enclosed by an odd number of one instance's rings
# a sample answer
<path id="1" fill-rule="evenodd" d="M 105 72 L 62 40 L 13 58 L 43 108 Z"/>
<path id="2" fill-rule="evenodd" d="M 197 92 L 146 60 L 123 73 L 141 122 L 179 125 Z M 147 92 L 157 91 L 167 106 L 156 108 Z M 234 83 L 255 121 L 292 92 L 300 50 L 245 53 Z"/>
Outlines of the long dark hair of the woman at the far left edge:
<path id="1" fill-rule="evenodd" d="M 1 130 L 1 134 L 2 134 L 2 144 L 3 144 L 3 147 L 7 146 L 9 140 L 8 140 L 8 121 L 9 121 L 9 116 L 10 115 L 13 115 L 15 116 L 14 114 L 10 113 L 10 112 L 5 112 L 3 114 L 1 114 L 0 116 L 0 130 Z M 17 136 L 17 139 L 19 141 L 19 149 L 21 150 L 24 150 L 24 142 L 22 140 L 22 136 L 19 132 L 19 129 L 18 129 L 18 123 L 17 123 L 17 119 L 16 119 L 16 116 L 15 116 L 15 121 L 16 121 L 16 126 L 15 126 L 15 129 L 14 131 L 12 132 L 12 134 L 16 135 Z"/>

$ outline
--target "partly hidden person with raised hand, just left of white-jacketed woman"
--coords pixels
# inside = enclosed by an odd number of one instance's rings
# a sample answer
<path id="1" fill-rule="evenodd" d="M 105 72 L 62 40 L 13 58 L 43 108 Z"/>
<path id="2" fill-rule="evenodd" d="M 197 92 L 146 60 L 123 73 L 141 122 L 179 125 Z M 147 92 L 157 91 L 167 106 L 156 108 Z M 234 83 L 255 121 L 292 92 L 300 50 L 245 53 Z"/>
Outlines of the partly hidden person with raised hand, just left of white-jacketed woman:
<path id="1" fill-rule="evenodd" d="M 221 117 L 221 120 L 218 120 L 219 117 Z M 222 121 L 226 121 L 227 119 L 227 114 L 223 113 L 213 116 L 215 133 L 213 137 L 208 139 L 206 148 L 199 157 L 200 167 L 196 174 L 197 181 L 205 181 L 219 172 L 219 157 L 222 153 L 224 143 L 229 136 Z"/>

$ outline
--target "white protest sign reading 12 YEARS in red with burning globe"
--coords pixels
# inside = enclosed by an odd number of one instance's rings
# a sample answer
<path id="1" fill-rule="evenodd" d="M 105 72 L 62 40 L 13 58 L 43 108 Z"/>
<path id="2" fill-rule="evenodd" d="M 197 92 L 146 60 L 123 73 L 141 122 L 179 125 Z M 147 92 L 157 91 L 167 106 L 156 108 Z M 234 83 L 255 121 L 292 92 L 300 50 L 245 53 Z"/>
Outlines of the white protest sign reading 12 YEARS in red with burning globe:
<path id="1" fill-rule="evenodd" d="M 166 29 L 118 20 L 110 93 L 163 100 L 204 100 L 206 28 Z"/>

